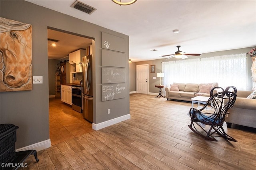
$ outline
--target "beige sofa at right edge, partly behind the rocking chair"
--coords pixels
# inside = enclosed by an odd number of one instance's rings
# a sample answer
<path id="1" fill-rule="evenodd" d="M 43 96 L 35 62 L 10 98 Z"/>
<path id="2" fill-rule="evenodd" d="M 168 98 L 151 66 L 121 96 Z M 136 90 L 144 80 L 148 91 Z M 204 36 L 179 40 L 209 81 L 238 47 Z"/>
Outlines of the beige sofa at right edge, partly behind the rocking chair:
<path id="1" fill-rule="evenodd" d="M 252 91 L 237 91 L 236 102 L 225 118 L 227 127 L 231 128 L 234 123 L 256 128 L 256 99 L 246 99 L 251 93 Z"/>

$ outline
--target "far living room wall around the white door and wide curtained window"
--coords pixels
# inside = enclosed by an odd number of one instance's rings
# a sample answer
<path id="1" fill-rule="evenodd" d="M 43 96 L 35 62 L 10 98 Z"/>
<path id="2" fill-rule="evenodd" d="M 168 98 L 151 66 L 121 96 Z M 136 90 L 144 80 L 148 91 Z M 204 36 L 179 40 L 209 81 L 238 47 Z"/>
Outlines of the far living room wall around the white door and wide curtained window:
<path id="1" fill-rule="evenodd" d="M 203 58 L 203 57 L 214 57 L 214 56 L 221 56 L 221 55 L 232 55 L 232 54 L 240 54 L 240 53 L 248 53 L 252 48 L 255 47 L 248 47 L 248 48 L 242 48 L 242 49 L 234 49 L 234 50 L 226 50 L 226 51 L 217 51 L 217 52 L 212 52 L 212 53 L 204 53 L 201 56 L 193 56 L 193 59 L 195 58 Z M 189 59 L 189 58 L 188 58 Z M 132 63 L 133 65 L 130 65 L 130 91 L 136 91 L 136 65 L 140 64 L 148 64 L 149 67 L 150 65 L 156 65 L 156 72 L 155 73 L 150 73 L 149 72 L 149 92 L 151 93 L 158 93 L 159 89 L 155 88 L 156 84 L 159 84 L 159 78 L 156 77 L 156 74 L 160 71 L 162 71 L 162 62 L 166 61 L 174 61 L 175 59 L 159 59 L 159 60 L 150 60 L 150 61 L 140 61 L 140 62 L 135 62 Z M 135 66 L 134 66 L 135 65 Z M 247 90 L 252 90 L 252 72 L 250 70 L 252 66 L 252 60 L 250 58 L 250 55 L 247 55 L 247 84 L 248 86 L 246 87 Z M 134 69 L 134 70 L 133 70 Z M 150 68 L 149 68 L 150 69 Z M 153 79 L 153 77 L 156 77 L 156 79 Z M 134 82 L 135 83 L 131 83 Z M 200 82 L 199 82 L 200 83 Z"/>

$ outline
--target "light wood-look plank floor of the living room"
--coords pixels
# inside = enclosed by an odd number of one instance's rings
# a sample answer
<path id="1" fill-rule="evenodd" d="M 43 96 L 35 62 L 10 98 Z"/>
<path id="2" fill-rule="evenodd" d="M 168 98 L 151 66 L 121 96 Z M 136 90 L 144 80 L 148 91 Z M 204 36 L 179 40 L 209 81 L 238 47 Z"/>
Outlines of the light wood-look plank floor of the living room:
<path id="1" fill-rule="evenodd" d="M 50 102 L 50 112 L 74 117 L 68 106 L 62 104 L 55 108 L 53 103 Z M 224 125 L 226 132 L 238 142 L 222 138 L 218 142 L 206 141 L 188 127 L 190 107 L 191 103 L 187 102 L 131 94 L 131 119 L 82 135 L 72 134 L 70 130 L 73 137 L 68 136 L 66 141 L 58 139 L 52 147 L 39 151 L 38 163 L 31 155 L 24 169 L 256 169 L 256 129 L 238 125 L 230 129 Z M 51 114 L 50 125 L 55 122 Z M 82 127 L 84 121 L 80 121 Z M 64 122 L 67 126 L 64 123 L 60 123 L 63 127 L 56 126 L 61 129 L 73 125 Z"/>

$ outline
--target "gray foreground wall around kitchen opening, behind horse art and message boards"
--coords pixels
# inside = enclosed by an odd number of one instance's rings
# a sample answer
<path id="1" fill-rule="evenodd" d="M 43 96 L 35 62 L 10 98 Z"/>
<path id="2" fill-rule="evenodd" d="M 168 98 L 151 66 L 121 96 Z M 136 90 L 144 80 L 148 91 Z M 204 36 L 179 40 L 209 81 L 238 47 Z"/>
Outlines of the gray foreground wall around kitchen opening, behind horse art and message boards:
<path id="1" fill-rule="evenodd" d="M 130 113 L 129 109 L 129 37 L 26 1 L 1 0 L 3 18 L 32 25 L 32 74 L 43 76 L 43 84 L 33 84 L 32 90 L 1 93 L 1 122 L 19 126 L 16 149 L 49 139 L 48 47 L 47 28 L 56 28 L 78 35 L 93 37 L 94 123 Z M 75 26 L 74 26 L 75 25 Z M 126 98 L 101 102 L 101 33 L 125 40 Z M 107 114 L 107 109 L 111 114 Z"/>

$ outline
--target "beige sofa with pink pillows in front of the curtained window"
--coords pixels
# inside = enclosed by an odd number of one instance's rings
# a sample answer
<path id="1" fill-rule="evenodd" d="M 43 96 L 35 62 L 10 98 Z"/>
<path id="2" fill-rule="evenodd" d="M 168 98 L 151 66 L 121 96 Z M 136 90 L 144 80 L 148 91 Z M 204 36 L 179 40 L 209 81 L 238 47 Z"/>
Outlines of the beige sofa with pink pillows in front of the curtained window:
<path id="1" fill-rule="evenodd" d="M 209 96 L 210 90 L 217 87 L 218 83 L 173 83 L 170 87 L 164 88 L 166 92 L 166 99 L 174 100 L 185 100 L 190 101 L 191 98 L 195 96 Z"/>

